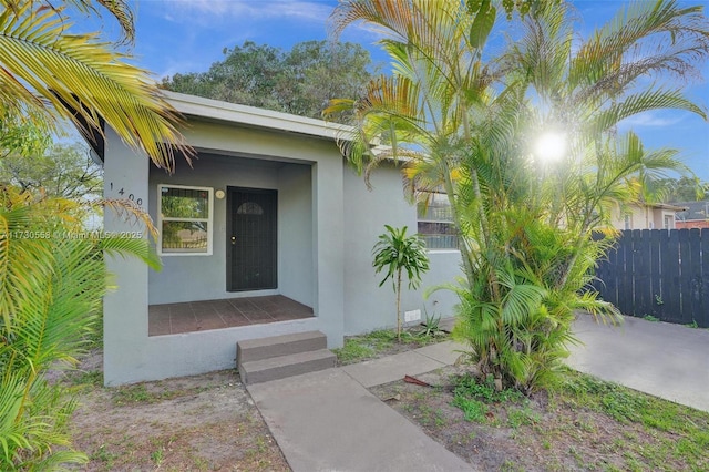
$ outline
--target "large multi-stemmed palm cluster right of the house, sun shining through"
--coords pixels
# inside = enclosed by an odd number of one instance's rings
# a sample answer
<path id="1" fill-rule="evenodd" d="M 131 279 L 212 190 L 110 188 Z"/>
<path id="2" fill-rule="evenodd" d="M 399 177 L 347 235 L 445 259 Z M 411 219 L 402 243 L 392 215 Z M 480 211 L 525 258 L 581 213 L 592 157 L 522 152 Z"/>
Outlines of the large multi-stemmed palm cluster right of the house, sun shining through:
<path id="1" fill-rule="evenodd" d="M 687 171 L 675 152 L 645 152 L 617 126 L 659 109 L 705 116 L 681 90 L 639 79 L 696 70 L 709 28 L 701 8 L 656 0 L 623 10 L 578 44 L 571 7 L 543 2 L 520 20 L 517 44 L 485 61 L 495 11 L 479 7 L 342 1 L 336 32 L 360 20 L 383 32 L 393 76 L 332 110 L 354 109 L 357 132 L 342 147 L 366 177 L 382 160 L 402 158 L 415 189 L 445 191 L 462 236 L 455 334 L 499 388 L 531 391 L 553 382 L 573 341 L 574 309 L 617 315 L 587 289 L 612 243 L 592 232 L 653 177 Z M 566 133 L 565 152 L 544 165 L 532 144 L 554 129 Z"/>

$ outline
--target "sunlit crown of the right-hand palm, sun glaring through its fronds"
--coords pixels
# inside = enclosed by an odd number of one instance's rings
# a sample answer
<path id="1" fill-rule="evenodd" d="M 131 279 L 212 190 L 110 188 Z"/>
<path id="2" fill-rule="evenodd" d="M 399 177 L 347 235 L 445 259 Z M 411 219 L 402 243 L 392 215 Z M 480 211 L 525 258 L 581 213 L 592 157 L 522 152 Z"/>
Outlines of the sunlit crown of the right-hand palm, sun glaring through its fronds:
<path id="1" fill-rule="evenodd" d="M 563 172 L 547 175 L 552 178 L 544 184 L 576 198 L 562 199 L 565 206 L 556 205 L 549 218 L 577 224 L 583 235 L 603 224 L 612 206 L 651 201 L 647 191 L 664 172 L 691 174 L 676 151 L 646 153 L 637 136 L 619 136 L 617 127 L 625 119 L 661 109 L 707 119 L 681 88 L 667 84 L 699 74 L 709 54 L 709 27 L 700 6 L 637 2 L 578 44 L 571 14 L 559 3 L 527 19 L 507 61 L 516 65 L 525 96 L 537 100 L 534 131 L 565 130 L 568 152 L 556 164 Z M 655 81 L 648 84 L 648 76 Z"/>

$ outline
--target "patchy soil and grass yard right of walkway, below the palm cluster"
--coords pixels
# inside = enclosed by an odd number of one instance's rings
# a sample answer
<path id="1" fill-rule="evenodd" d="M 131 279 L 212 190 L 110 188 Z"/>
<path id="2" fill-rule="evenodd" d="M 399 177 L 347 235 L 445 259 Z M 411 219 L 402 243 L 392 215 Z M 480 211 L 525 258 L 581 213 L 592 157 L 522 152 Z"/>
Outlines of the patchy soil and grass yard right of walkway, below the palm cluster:
<path id="1" fill-rule="evenodd" d="M 575 372 L 553 394 L 489 400 L 491 390 L 456 393 L 462 373 L 451 367 L 418 376 L 433 387 L 371 391 L 484 471 L 709 470 L 707 413 Z"/>

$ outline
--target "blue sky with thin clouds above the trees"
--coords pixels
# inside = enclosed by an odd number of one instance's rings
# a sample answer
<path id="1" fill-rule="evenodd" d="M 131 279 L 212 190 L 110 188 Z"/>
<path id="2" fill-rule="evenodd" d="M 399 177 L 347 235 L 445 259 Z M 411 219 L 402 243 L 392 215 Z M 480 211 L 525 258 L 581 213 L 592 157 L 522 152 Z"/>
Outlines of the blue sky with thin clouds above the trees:
<path id="1" fill-rule="evenodd" d="M 432 0 L 438 1 L 438 0 Z M 580 32 L 587 34 L 612 18 L 620 0 L 577 0 Z M 709 0 L 703 4 L 709 16 Z M 327 38 L 327 19 L 337 0 L 140 0 L 133 6 L 137 37 L 132 52 L 135 62 L 155 79 L 176 72 L 202 72 L 223 58 L 225 48 L 244 41 L 270 44 L 285 50 L 297 42 Z M 109 19 L 101 25 L 109 37 L 117 30 Z M 370 50 L 374 61 L 387 63 L 374 42 L 376 32 L 363 27 L 345 31 L 343 41 L 358 42 Z M 703 81 L 686 86 L 688 94 L 709 106 L 709 65 Z M 646 147 L 681 150 L 684 162 L 709 181 L 709 123 L 689 113 L 662 111 L 627 120 L 621 131 L 635 130 Z"/>

